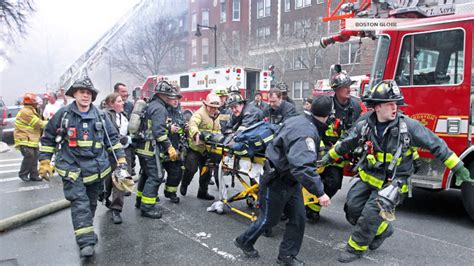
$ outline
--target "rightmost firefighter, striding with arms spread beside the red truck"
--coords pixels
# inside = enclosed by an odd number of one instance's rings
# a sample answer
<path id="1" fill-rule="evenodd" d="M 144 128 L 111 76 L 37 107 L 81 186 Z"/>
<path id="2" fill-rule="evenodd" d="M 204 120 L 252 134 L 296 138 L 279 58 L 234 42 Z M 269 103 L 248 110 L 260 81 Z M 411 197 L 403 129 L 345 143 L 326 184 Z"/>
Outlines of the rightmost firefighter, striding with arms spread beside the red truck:
<path id="1" fill-rule="evenodd" d="M 344 211 L 354 225 L 340 262 L 352 262 L 362 257 L 367 249 L 375 250 L 390 237 L 393 226 L 382 218 L 380 191 L 397 184 L 397 196 L 408 192 L 408 178 L 413 173 L 412 147 L 429 150 L 454 172 L 456 182 L 473 182 L 463 162 L 446 143 L 420 122 L 398 112 L 403 96 L 395 81 L 386 80 L 374 86 L 364 98 L 374 112 L 357 122 L 327 155 L 323 164 L 362 147 L 358 174 L 347 194 Z M 395 208 L 396 205 L 392 206 Z"/>

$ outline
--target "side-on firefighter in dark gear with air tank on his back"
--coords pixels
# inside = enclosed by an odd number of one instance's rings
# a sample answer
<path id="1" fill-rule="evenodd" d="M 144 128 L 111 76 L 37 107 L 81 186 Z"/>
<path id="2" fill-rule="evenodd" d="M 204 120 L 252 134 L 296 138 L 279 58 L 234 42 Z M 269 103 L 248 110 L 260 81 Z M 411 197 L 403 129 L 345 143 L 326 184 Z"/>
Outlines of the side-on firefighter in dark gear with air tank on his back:
<path id="1" fill-rule="evenodd" d="M 169 117 L 168 96 L 173 96 L 174 93 L 173 87 L 168 82 L 158 82 L 155 94 L 148 103 L 145 118 L 142 121 L 144 138 L 137 141 L 136 153 L 140 161 L 141 173 L 135 206 L 140 207 L 143 217 L 152 219 L 159 219 L 162 216 L 156 206 L 158 189 L 164 182 L 162 158 L 168 155 L 172 162 L 179 159 L 178 153 L 168 137 L 166 123 Z"/>

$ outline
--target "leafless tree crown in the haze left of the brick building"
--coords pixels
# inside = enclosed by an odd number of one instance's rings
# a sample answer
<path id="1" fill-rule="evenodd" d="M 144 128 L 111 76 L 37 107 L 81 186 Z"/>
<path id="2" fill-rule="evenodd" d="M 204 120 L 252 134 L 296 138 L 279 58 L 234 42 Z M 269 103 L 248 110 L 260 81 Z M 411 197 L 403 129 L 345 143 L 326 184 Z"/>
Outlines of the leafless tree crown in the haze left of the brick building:
<path id="1" fill-rule="evenodd" d="M 184 38 L 176 19 L 163 16 L 142 20 L 131 27 L 127 36 L 111 49 L 112 67 L 138 79 L 160 72 L 163 60 Z"/>

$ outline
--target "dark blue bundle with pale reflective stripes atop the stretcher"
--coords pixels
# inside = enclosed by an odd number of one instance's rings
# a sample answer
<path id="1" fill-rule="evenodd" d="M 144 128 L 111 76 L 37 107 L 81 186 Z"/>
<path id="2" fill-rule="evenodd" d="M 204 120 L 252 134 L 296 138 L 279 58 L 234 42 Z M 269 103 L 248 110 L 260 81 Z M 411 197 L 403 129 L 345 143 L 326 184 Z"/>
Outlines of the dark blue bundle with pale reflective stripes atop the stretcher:
<path id="1" fill-rule="evenodd" d="M 277 134 L 279 126 L 268 122 L 258 122 L 253 126 L 240 131 L 234 138 L 231 149 L 237 155 L 254 157 L 257 153 L 264 153 L 267 144 Z"/>

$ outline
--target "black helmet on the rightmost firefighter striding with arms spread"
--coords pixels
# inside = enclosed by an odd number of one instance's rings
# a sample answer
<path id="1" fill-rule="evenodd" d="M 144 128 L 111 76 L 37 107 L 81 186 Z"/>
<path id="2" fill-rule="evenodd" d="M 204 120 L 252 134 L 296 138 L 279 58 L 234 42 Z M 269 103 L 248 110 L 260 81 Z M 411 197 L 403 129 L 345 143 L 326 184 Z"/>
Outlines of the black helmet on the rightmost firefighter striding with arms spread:
<path id="1" fill-rule="evenodd" d="M 377 103 L 397 102 L 397 105 L 404 104 L 404 97 L 400 88 L 394 80 L 384 80 L 372 87 L 370 91 L 363 96 L 367 106 L 374 106 Z"/>

